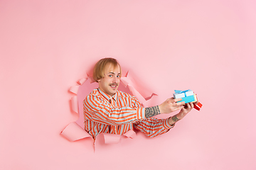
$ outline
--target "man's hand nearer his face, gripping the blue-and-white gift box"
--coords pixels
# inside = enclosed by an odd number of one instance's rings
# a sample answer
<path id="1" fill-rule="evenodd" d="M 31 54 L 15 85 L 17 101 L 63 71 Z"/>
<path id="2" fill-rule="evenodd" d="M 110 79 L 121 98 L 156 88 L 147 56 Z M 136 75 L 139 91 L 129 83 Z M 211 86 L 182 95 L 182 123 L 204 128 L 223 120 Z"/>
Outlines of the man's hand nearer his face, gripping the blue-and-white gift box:
<path id="1" fill-rule="evenodd" d="M 181 102 L 178 102 L 178 101 L 181 101 Z M 159 111 L 160 113 L 171 113 L 183 108 L 184 104 L 185 104 L 185 101 L 182 101 L 181 98 L 175 98 L 175 99 L 173 97 L 168 98 L 166 101 L 164 101 L 164 103 L 161 103 L 161 105 L 159 105 Z"/>

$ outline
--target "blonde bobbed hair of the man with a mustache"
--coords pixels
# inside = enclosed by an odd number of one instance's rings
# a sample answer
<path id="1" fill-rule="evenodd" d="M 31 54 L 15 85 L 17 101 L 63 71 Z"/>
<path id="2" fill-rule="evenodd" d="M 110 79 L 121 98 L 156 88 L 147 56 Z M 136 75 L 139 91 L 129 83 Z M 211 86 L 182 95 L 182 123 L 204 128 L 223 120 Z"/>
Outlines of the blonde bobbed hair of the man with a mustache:
<path id="1" fill-rule="evenodd" d="M 103 58 L 100 61 L 98 61 L 95 64 L 95 67 L 93 68 L 93 79 L 98 82 L 99 79 L 102 79 L 105 77 L 104 72 L 105 72 L 105 67 L 107 64 L 112 64 L 112 66 L 117 67 L 119 66 L 120 68 L 120 73 L 121 72 L 121 67 L 119 65 L 119 63 L 117 62 L 117 60 L 115 60 L 114 58 Z"/>

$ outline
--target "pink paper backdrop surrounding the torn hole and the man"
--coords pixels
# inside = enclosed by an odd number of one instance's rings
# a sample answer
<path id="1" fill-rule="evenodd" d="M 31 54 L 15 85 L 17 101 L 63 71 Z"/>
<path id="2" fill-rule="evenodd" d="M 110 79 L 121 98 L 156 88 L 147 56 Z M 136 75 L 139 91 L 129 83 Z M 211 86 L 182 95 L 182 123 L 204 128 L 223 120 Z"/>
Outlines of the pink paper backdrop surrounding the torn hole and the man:
<path id="1" fill-rule="evenodd" d="M 256 3 L 0 1 L 0 169 L 256 169 Z M 69 142 L 70 86 L 102 57 L 203 103 L 165 135 Z M 161 115 L 166 118 L 170 115 Z"/>

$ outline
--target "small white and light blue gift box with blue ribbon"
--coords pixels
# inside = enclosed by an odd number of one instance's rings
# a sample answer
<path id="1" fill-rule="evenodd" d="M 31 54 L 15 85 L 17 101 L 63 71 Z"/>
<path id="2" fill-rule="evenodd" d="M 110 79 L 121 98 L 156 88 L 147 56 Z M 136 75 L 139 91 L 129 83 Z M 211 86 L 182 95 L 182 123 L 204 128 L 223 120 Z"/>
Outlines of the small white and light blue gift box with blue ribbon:
<path id="1" fill-rule="evenodd" d="M 175 90 L 174 98 L 182 98 L 182 101 L 185 101 L 185 103 L 197 101 L 195 94 L 191 90 L 186 90 L 186 91 Z M 178 102 L 181 102 L 181 101 L 178 101 Z"/>

